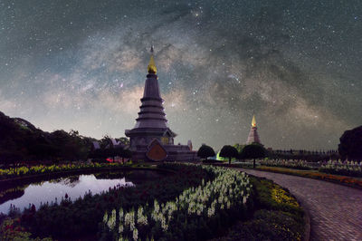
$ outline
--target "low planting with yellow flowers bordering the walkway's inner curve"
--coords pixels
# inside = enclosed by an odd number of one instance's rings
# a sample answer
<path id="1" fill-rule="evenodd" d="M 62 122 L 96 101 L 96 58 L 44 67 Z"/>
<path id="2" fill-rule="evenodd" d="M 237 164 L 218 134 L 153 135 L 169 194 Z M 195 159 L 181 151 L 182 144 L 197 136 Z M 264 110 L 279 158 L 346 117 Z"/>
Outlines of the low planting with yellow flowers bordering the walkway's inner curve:
<path id="1" fill-rule="evenodd" d="M 251 220 L 214 240 L 302 240 L 308 232 L 303 209 L 287 189 L 265 178 L 251 178 L 258 209 Z M 308 235 L 307 235 L 308 236 Z"/>

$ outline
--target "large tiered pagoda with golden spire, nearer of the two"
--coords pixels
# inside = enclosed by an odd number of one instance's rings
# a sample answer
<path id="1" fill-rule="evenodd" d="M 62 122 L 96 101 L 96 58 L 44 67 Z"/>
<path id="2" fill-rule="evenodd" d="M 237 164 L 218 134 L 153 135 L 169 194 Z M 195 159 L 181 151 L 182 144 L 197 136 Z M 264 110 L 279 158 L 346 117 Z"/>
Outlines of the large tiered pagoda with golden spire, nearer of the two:
<path id="1" fill-rule="evenodd" d="M 192 150 L 191 141 L 188 145 L 175 145 L 176 133 L 167 126 L 157 80 L 157 67 L 154 60 L 153 47 L 148 63 L 148 75 L 145 90 L 141 98 L 140 111 L 136 125 L 132 130 L 126 130 L 129 137 L 129 149 L 135 160 L 197 160 L 196 151 Z"/>

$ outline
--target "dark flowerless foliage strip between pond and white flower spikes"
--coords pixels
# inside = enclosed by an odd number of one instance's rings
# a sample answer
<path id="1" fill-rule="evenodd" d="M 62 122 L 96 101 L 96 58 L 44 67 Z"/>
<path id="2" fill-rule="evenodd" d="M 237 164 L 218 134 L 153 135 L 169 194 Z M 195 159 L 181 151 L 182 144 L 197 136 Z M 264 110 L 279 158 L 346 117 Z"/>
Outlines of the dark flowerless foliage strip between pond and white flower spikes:
<path id="1" fill-rule="evenodd" d="M 81 236 L 96 236 L 99 223 L 105 212 L 112 209 L 130 210 L 131 207 L 146 207 L 154 199 L 166 203 L 178 197 L 186 188 L 201 185 L 214 178 L 213 173 L 196 166 L 160 165 L 160 169 L 176 170 L 174 175 L 157 178 L 136 187 L 114 187 L 108 192 L 71 201 L 62 198 L 38 210 L 26 208 L 21 215 L 21 223 L 35 236 L 52 236 L 53 238 L 76 239 Z"/>

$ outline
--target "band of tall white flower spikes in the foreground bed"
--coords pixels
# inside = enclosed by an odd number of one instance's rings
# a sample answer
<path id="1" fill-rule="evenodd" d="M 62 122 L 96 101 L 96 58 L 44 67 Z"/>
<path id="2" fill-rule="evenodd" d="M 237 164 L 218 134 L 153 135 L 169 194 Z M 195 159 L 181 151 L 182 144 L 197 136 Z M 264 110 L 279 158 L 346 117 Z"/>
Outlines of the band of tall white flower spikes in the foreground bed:
<path id="1" fill-rule="evenodd" d="M 103 217 L 102 239 L 205 240 L 246 217 L 252 185 L 245 173 L 203 167 L 213 180 L 202 180 L 167 202 L 119 207 Z M 249 200 L 249 203 L 248 203 Z M 250 209 L 250 208 L 249 208 Z"/>

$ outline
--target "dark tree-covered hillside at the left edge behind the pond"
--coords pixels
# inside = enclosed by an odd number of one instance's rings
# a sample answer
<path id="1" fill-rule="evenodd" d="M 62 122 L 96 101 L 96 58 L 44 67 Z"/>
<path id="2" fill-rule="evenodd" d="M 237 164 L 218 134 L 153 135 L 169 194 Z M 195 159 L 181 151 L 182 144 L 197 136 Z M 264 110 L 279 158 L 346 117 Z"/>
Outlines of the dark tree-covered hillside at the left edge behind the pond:
<path id="1" fill-rule="evenodd" d="M 0 163 L 19 160 L 86 159 L 93 139 L 78 131 L 46 132 L 0 111 Z"/>

